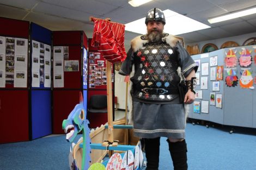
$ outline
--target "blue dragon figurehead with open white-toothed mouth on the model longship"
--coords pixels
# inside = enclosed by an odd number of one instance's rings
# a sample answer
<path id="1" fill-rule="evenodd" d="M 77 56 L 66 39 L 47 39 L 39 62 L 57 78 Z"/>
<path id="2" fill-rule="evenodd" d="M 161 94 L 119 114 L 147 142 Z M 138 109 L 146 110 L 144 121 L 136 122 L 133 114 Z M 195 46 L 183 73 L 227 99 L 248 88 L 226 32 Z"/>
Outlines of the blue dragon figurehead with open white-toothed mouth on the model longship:
<path id="1" fill-rule="evenodd" d="M 88 169 L 90 161 L 90 129 L 88 124 L 89 121 L 86 119 L 86 111 L 83 106 L 83 96 L 80 92 L 80 103 L 70 112 L 68 119 L 64 119 L 62 129 L 66 133 L 68 142 L 73 142 L 80 131 L 83 133 L 82 170 Z"/>

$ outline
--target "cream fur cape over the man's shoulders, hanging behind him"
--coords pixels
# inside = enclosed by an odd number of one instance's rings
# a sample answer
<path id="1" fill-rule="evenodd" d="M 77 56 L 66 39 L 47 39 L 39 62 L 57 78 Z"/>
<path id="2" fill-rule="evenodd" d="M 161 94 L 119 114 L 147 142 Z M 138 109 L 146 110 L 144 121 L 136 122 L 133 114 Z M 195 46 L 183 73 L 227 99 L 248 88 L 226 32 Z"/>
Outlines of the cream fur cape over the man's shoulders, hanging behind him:
<path id="1" fill-rule="evenodd" d="M 176 43 L 181 42 L 182 45 L 184 44 L 183 39 L 181 37 L 178 36 L 173 36 L 170 34 L 165 34 L 166 36 L 162 37 L 162 42 L 166 42 L 168 43 L 168 45 L 170 47 L 175 47 Z M 144 35 L 139 35 L 137 37 L 135 37 L 134 39 L 131 40 L 131 47 L 133 49 L 133 52 L 137 52 L 138 49 L 142 48 L 143 45 L 145 45 L 145 43 L 148 43 L 149 41 L 145 38 Z M 178 67 L 178 75 L 180 76 L 181 80 L 185 80 L 184 75 L 181 73 L 181 68 Z M 135 74 L 135 68 L 134 65 L 132 66 L 132 72 L 130 74 L 130 77 L 133 77 L 133 75 Z M 132 82 L 130 81 L 129 83 L 129 87 L 128 87 L 128 91 L 130 91 L 128 93 L 128 112 L 127 112 L 127 122 L 128 124 L 133 125 L 133 105 L 132 105 L 132 95 L 131 95 L 131 90 L 132 90 Z M 187 118 L 188 115 L 188 111 L 189 111 L 189 106 L 188 104 L 184 104 L 184 108 L 185 108 L 185 116 Z M 185 118 L 185 120 L 186 120 Z M 186 122 L 185 122 L 186 123 Z"/>

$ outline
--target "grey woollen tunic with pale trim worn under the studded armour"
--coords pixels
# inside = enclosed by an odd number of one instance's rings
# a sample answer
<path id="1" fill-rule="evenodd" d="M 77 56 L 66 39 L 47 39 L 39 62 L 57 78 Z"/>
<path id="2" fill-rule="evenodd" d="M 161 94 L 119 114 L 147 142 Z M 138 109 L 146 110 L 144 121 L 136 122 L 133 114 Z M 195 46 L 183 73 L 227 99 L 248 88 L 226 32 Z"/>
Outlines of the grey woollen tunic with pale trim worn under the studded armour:
<path id="1" fill-rule="evenodd" d="M 185 77 L 194 69 L 197 70 L 197 65 L 187 53 L 184 47 L 177 43 L 175 49 L 178 51 L 178 64 L 181 67 L 182 74 Z M 153 55 L 154 56 L 154 55 Z M 121 65 L 119 74 L 129 75 L 132 71 L 132 65 L 135 64 L 135 58 L 138 57 L 132 48 L 127 53 L 127 58 Z M 139 69 L 135 68 L 136 71 Z M 133 92 L 133 95 L 135 92 Z M 179 95 L 171 98 L 169 101 L 149 101 L 135 100 L 133 98 L 133 128 L 134 134 L 143 138 L 155 137 L 185 137 L 185 111 L 184 104 L 179 102 Z"/>

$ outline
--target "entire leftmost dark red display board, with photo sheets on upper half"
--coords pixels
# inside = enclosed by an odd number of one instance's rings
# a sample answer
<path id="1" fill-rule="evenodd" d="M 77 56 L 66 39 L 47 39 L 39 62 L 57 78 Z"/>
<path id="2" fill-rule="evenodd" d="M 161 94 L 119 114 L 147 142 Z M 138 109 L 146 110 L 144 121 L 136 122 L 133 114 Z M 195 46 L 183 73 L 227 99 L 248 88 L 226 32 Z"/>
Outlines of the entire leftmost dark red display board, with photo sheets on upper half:
<path id="1" fill-rule="evenodd" d="M 0 143 L 27 141 L 29 22 L 0 17 L 0 23 Z"/>

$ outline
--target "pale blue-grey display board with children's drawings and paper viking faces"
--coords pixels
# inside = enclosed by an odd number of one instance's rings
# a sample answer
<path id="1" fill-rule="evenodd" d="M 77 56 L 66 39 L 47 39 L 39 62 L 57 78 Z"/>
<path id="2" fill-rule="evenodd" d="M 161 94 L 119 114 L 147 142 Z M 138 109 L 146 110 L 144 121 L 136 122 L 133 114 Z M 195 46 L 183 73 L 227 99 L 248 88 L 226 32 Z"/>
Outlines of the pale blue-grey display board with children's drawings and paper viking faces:
<path id="1" fill-rule="evenodd" d="M 188 117 L 224 125 L 256 127 L 256 46 L 224 48 L 192 55 L 196 99 Z"/>

